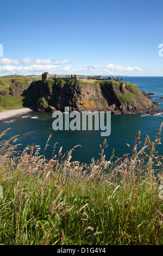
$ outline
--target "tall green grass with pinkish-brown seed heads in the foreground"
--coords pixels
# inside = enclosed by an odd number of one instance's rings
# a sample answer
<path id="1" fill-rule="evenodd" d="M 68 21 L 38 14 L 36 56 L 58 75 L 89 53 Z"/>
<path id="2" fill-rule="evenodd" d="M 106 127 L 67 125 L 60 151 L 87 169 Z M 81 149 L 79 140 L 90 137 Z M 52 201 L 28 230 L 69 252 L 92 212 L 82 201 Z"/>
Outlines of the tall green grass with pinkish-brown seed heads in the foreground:
<path id="1" fill-rule="evenodd" d="M 105 160 L 105 140 L 90 164 L 71 162 L 73 149 L 47 161 L 37 145 L 18 155 L 16 137 L 1 141 L 0 244 L 161 245 L 161 127 L 154 142 L 138 132 L 116 161 Z"/>

